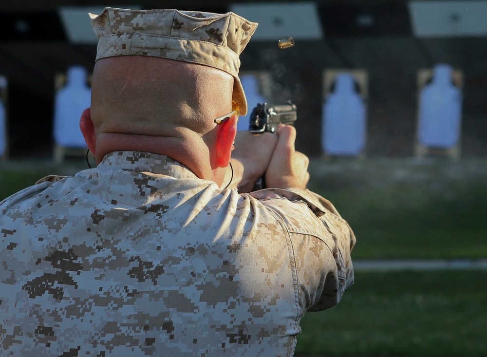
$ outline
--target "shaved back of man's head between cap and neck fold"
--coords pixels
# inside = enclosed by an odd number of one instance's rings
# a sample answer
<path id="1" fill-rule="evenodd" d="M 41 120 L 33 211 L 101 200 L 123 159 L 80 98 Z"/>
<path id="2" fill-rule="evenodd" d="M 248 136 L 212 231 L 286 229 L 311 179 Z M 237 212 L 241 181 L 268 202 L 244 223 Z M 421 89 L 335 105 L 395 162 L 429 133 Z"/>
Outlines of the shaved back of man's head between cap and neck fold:
<path id="1" fill-rule="evenodd" d="M 91 116 L 97 133 L 203 135 L 231 110 L 233 77 L 158 57 L 118 56 L 94 66 Z"/>

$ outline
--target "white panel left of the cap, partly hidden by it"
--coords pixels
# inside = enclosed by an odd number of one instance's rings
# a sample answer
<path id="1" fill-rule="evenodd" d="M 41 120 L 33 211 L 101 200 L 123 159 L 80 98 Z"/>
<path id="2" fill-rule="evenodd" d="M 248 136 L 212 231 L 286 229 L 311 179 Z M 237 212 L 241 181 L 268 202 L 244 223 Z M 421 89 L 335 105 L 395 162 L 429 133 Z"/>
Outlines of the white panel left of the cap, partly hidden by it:
<path id="1" fill-rule="evenodd" d="M 116 6 L 114 6 L 116 7 Z M 64 31 L 73 44 L 97 44 L 98 38 L 94 34 L 88 13 L 99 14 L 105 7 L 102 6 L 62 6 L 59 8 L 59 18 Z M 124 9 L 140 9 L 139 5 L 123 6 Z"/>

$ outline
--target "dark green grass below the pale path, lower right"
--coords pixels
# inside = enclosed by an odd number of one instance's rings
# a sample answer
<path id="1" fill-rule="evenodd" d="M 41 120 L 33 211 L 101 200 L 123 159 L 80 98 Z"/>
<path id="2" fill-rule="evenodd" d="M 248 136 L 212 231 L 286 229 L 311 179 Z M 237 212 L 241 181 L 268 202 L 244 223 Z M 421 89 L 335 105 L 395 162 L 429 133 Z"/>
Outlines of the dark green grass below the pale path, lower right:
<path id="1" fill-rule="evenodd" d="M 296 356 L 487 356 L 487 271 L 356 273 L 340 303 L 308 313 Z"/>

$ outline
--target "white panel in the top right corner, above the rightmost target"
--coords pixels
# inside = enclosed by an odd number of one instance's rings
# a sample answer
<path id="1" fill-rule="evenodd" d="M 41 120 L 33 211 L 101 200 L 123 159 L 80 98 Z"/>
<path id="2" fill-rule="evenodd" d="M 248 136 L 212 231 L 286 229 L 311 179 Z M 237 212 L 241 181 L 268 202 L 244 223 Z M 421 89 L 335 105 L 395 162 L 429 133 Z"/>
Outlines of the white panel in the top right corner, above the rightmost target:
<path id="1" fill-rule="evenodd" d="M 411 1 L 417 37 L 487 36 L 487 1 Z"/>

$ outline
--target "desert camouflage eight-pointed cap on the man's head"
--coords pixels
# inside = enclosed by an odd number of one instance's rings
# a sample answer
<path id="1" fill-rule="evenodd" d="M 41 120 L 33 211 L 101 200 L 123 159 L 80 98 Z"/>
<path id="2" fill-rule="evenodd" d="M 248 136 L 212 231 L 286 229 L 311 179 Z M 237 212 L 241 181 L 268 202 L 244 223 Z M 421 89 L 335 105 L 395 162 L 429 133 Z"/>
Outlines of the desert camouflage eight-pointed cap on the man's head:
<path id="1" fill-rule="evenodd" d="M 179 10 L 105 8 L 89 14 L 98 36 L 96 60 L 112 56 L 155 56 L 217 68 L 232 75 L 233 100 L 247 112 L 238 76 L 240 54 L 257 28 L 237 14 Z"/>

